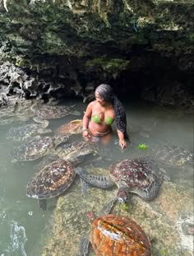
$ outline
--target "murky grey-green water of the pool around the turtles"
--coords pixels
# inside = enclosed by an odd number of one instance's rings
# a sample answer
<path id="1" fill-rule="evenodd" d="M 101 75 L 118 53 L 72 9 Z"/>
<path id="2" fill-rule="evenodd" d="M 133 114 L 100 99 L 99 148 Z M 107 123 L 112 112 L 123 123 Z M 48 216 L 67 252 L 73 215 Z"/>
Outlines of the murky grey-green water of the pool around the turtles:
<path id="1" fill-rule="evenodd" d="M 67 100 L 65 105 L 75 105 L 80 116 L 68 115 L 62 119 L 51 119 L 49 128 L 53 132 L 63 123 L 72 119 L 81 119 L 86 105 L 78 100 Z M 137 149 L 138 144 L 145 143 L 150 148 L 155 145 L 175 145 L 193 151 L 193 119 L 189 114 L 179 110 L 160 108 L 159 106 L 141 102 L 124 102 L 127 110 L 128 133 L 131 145 L 126 150 L 118 147 L 118 137 L 114 133 L 107 158 L 109 161 L 96 160 L 95 166 L 109 167 L 109 163 L 128 156 L 144 156 L 146 151 Z M 30 107 L 29 107 L 30 108 Z M 1 111 L 2 109 L 0 109 Z M 16 114 L 16 113 L 15 113 Z M 8 114 L 7 114 L 8 115 Z M 19 164 L 12 163 L 10 152 L 13 147 L 22 142 L 7 140 L 9 128 L 33 123 L 28 111 L 26 119 L 13 119 L 3 116 L 0 126 L 0 255 L 41 255 L 41 249 L 51 234 L 52 213 L 55 200 L 48 203 L 48 211 L 39 209 L 37 200 L 25 196 L 25 187 L 30 177 L 35 173 L 35 164 L 39 161 L 29 161 Z M 7 124 L 6 124 L 7 123 Z M 115 132 L 115 127 L 113 127 Z M 50 134 L 50 136 L 53 134 Z M 73 137 L 80 140 L 81 136 Z M 128 143 L 129 144 L 129 143 Z M 161 167 L 167 172 L 172 182 L 186 188 L 193 186 L 193 172 L 190 168 L 176 166 Z"/>

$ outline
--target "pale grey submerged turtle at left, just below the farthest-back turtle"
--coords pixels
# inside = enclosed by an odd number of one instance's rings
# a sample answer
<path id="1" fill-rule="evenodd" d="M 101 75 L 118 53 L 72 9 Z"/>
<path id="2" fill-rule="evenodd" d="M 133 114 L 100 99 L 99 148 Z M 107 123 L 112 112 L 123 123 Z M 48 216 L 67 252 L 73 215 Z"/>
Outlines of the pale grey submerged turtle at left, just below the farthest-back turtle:
<path id="1" fill-rule="evenodd" d="M 27 123 L 20 127 L 10 128 L 7 133 L 7 139 L 12 139 L 13 141 L 25 141 L 27 138 L 37 134 L 52 133 L 52 130 L 47 128 L 49 124 L 48 120 L 35 117 L 34 121 L 36 123 Z"/>

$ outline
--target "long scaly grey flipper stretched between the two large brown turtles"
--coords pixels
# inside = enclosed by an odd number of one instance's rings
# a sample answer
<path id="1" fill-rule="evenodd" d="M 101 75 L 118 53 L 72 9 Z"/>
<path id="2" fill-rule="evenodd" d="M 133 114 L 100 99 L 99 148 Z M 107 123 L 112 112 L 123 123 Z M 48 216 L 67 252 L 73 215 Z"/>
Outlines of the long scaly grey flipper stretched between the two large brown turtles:
<path id="1" fill-rule="evenodd" d="M 76 168 L 76 173 L 82 179 L 84 179 L 91 186 L 97 187 L 99 189 L 109 189 L 113 186 L 114 182 L 107 179 L 105 176 L 89 175 L 86 171 L 82 170 L 80 167 Z"/>

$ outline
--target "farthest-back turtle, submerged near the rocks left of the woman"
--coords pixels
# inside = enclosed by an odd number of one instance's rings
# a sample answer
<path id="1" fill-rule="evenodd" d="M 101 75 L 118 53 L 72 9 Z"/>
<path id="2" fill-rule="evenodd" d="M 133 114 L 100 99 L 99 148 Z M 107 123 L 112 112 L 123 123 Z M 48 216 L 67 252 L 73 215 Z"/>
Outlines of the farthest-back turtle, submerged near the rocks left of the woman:
<path id="1" fill-rule="evenodd" d="M 72 110 L 74 107 L 67 106 L 54 106 L 54 105 L 41 105 L 39 107 L 38 103 L 31 105 L 31 111 L 36 114 L 40 119 L 60 119 L 68 114 L 80 115 L 77 110 Z"/>

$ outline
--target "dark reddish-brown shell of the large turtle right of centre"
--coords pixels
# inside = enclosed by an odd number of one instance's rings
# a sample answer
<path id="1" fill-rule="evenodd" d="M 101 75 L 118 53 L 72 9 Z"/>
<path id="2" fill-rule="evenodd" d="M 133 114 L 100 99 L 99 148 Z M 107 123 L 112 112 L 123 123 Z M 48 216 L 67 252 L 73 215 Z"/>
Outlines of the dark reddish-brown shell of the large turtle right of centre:
<path id="1" fill-rule="evenodd" d="M 127 158 L 110 165 L 109 170 L 118 187 L 127 187 L 146 200 L 156 197 L 164 179 L 157 163 L 149 157 Z"/>

